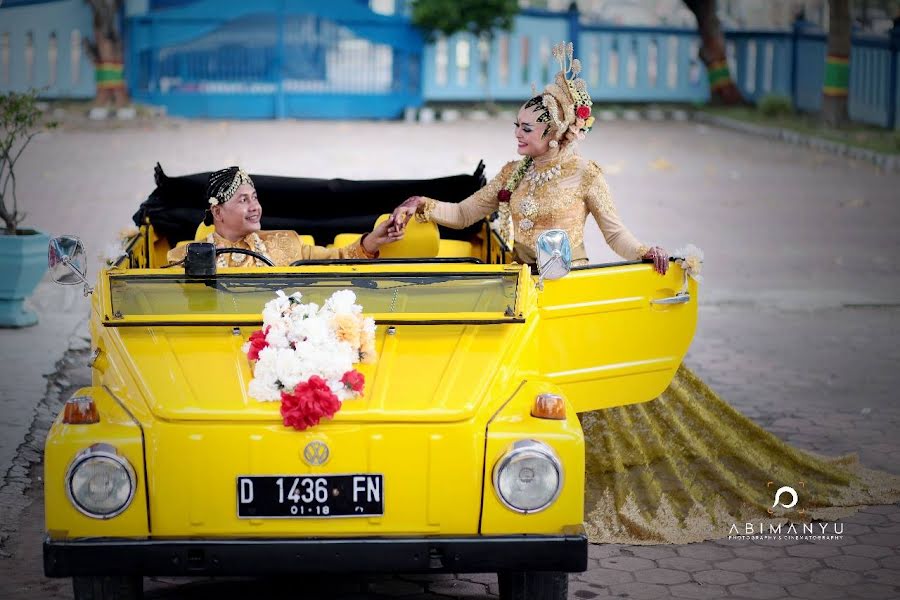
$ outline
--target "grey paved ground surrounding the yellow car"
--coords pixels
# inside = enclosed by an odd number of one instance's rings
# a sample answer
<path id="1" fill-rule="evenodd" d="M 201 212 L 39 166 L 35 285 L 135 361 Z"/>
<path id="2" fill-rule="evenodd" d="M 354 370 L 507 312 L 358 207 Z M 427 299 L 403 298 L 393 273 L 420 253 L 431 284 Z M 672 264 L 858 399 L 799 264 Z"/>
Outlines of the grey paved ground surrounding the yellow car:
<path id="1" fill-rule="evenodd" d="M 255 172 L 371 178 L 444 175 L 484 158 L 496 172 L 511 157 L 511 129 L 494 121 L 168 121 L 64 130 L 35 141 L 19 186 L 29 225 L 76 233 L 95 253 L 130 224 L 152 189 L 156 160 L 172 174 L 240 163 Z M 900 176 L 690 123 L 604 124 L 582 151 L 604 166 L 639 236 L 706 252 L 688 364 L 791 443 L 826 454 L 858 451 L 864 464 L 900 472 L 900 263 L 893 259 Z M 610 256 L 596 229 L 589 248 L 595 258 Z M 45 283 L 34 303 L 37 328 L 0 331 L 0 550 L 7 556 L 0 597 L 68 598 L 68 582 L 41 576 L 41 471 L 30 467 L 60 398 L 87 377 L 86 301 L 80 290 Z M 900 507 L 872 507 L 843 524 L 843 539 L 831 541 L 595 546 L 570 596 L 900 597 Z M 147 588 L 154 598 L 487 598 L 496 582 L 328 580 L 304 581 L 301 589 L 297 582 L 152 580 Z"/>

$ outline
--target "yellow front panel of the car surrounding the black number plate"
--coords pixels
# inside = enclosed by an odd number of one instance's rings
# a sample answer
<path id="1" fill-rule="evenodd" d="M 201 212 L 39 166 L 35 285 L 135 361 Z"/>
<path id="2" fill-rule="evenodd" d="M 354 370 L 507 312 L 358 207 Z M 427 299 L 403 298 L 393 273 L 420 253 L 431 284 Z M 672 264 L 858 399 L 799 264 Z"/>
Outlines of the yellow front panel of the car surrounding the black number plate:
<path id="1" fill-rule="evenodd" d="M 324 465 L 303 460 L 304 448 L 314 440 L 329 448 Z M 484 441 L 470 423 L 422 427 L 331 422 L 304 432 L 280 423 L 164 423 L 150 443 L 166 449 L 148 456 L 154 537 L 478 533 L 478 511 L 460 510 L 477 507 L 481 498 Z M 355 473 L 384 476 L 384 515 L 237 517 L 238 476 Z"/>

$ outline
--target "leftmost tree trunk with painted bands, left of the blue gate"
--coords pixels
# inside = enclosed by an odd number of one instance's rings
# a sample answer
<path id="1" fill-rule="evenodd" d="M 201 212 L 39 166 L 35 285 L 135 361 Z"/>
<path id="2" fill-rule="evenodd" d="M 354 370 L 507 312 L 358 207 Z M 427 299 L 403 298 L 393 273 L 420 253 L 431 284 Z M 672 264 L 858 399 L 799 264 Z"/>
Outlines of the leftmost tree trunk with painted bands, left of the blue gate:
<path id="1" fill-rule="evenodd" d="M 124 44 L 119 27 L 123 0 L 85 0 L 94 14 L 94 41 L 85 40 L 88 55 L 94 61 L 97 95 L 94 104 L 106 107 L 110 101 L 118 108 L 128 104 L 125 85 Z"/>

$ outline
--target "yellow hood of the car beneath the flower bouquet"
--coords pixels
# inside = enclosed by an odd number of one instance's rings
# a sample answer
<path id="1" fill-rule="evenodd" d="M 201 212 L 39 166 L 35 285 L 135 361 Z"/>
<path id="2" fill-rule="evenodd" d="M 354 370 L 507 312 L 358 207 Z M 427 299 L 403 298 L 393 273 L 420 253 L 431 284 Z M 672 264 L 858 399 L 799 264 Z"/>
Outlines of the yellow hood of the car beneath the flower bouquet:
<path id="1" fill-rule="evenodd" d="M 358 365 L 363 396 L 335 421 L 458 421 L 474 414 L 517 345 L 521 324 L 402 324 L 376 332 L 378 356 Z M 119 328 L 126 366 L 150 410 L 169 420 L 280 421 L 280 402 L 260 402 L 241 346 L 255 330 L 230 326 Z"/>

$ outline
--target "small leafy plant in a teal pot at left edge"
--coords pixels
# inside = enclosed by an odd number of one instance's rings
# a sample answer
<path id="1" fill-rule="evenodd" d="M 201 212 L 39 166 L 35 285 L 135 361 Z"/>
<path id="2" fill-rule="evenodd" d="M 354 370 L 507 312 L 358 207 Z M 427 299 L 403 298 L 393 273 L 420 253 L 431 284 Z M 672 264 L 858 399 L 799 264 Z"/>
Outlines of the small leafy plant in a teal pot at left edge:
<path id="1" fill-rule="evenodd" d="M 20 229 L 25 213 L 16 200 L 16 161 L 45 122 L 37 92 L 0 95 L 0 327 L 28 327 L 37 315 L 25 306 L 47 271 L 49 237 L 34 229 Z"/>

